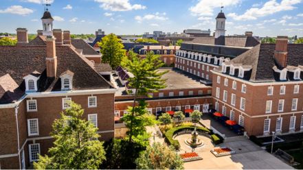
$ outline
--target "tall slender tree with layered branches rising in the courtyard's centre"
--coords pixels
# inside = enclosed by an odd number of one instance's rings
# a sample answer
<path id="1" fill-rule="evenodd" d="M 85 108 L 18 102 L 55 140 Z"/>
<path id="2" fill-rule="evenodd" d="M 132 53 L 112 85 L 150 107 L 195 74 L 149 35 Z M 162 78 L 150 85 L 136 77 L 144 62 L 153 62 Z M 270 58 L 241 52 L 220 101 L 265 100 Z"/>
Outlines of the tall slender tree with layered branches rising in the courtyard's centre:
<path id="1" fill-rule="evenodd" d="M 161 76 L 167 73 L 159 72 L 163 62 L 159 60 L 158 55 L 154 55 L 152 52 L 146 54 L 146 58 L 140 58 L 133 51 L 129 51 L 129 56 L 123 62 L 123 66 L 134 76 L 128 78 L 128 86 L 133 90 L 128 90 L 129 93 L 135 93 L 133 99 L 133 106 L 128 108 L 128 114 L 124 114 L 122 121 L 126 123 L 128 127 L 128 137 L 131 143 L 132 137 L 135 135 L 142 135 L 145 131 L 144 118 L 146 118 L 146 102 L 139 100 L 138 106 L 137 98 L 139 96 L 148 96 L 148 93 L 155 93 L 161 88 L 166 87 L 166 80 L 162 79 Z M 150 97 L 150 96 L 148 96 Z M 152 123 L 152 121 L 150 121 Z"/>

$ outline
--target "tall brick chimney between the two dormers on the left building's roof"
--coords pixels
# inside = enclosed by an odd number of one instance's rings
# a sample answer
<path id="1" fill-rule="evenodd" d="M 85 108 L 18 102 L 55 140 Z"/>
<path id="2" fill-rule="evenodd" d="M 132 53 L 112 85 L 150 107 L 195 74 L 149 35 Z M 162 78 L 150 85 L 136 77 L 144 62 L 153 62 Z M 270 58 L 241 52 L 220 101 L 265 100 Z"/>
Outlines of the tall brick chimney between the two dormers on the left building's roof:
<path id="1" fill-rule="evenodd" d="M 56 77 L 57 56 L 56 56 L 56 38 L 47 36 L 46 38 L 46 75 L 47 77 Z"/>

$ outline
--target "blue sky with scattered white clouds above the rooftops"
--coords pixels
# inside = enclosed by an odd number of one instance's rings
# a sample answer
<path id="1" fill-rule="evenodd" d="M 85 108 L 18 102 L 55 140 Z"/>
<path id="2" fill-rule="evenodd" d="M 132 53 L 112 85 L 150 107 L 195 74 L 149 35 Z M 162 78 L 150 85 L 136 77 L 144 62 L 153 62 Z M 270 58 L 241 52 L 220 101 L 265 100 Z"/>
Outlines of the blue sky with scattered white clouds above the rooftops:
<path id="1" fill-rule="evenodd" d="M 0 32 L 41 29 L 45 0 L 1 0 Z M 211 29 L 224 5 L 227 34 L 303 36 L 303 0 L 49 0 L 54 28 L 72 34 L 143 34 Z"/>

